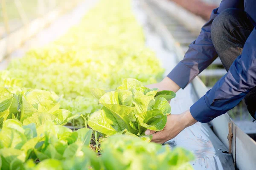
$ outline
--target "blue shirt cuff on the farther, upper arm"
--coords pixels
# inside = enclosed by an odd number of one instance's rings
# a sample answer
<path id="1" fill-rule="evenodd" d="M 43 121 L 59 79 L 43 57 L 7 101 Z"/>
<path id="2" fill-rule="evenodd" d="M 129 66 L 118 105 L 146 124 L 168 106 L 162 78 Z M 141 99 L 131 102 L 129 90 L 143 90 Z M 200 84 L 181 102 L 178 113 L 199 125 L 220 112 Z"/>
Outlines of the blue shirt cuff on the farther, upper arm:
<path id="1" fill-rule="evenodd" d="M 194 77 L 190 77 L 191 68 L 188 68 L 182 62 L 179 62 L 175 68 L 167 75 L 172 81 L 174 81 L 180 88 L 184 89 L 189 84 L 190 80 Z"/>

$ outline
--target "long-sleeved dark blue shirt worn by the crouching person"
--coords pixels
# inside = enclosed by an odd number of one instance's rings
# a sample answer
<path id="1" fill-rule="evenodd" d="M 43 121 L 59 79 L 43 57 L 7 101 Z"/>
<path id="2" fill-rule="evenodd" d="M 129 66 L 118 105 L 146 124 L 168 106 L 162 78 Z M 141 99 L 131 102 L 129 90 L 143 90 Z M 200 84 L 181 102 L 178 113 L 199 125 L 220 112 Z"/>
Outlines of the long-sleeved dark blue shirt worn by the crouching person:
<path id="1" fill-rule="evenodd" d="M 242 54 L 211 90 L 191 106 L 192 116 L 199 122 L 209 122 L 234 108 L 256 86 L 256 0 L 222 0 L 212 11 L 210 20 L 202 27 L 198 38 L 189 45 L 185 57 L 168 74 L 180 88 L 207 68 L 218 56 L 211 40 L 214 18 L 227 8 L 239 8 L 247 13 L 254 29 L 247 38 Z"/>

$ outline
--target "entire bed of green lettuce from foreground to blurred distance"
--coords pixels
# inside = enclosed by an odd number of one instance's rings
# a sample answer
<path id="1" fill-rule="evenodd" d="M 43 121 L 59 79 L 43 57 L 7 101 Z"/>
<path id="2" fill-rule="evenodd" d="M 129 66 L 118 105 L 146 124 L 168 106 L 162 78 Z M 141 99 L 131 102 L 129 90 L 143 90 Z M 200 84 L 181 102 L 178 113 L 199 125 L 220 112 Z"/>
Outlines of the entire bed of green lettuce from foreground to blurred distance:
<path id="1" fill-rule="evenodd" d="M 192 169 L 192 153 L 145 136 L 171 113 L 175 93 L 143 85 L 162 74 L 131 1 L 100 0 L 64 36 L 0 71 L 0 169 Z"/>

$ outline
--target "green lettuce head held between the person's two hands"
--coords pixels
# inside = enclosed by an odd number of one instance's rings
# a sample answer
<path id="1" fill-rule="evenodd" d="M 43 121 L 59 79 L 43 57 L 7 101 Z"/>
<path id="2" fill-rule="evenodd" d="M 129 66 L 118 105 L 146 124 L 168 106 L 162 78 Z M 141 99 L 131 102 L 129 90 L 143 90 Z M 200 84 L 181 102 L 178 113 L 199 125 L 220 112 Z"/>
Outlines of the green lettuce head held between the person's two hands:
<path id="1" fill-rule="evenodd" d="M 103 106 L 89 117 L 88 125 L 106 135 L 127 130 L 141 136 L 146 129 L 163 130 L 171 113 L 166 99 L 175 97 L 172 91 L 146 88 L 137 79 L 124 79 L 115 91 L 92 89 L 92 94 Z"/>

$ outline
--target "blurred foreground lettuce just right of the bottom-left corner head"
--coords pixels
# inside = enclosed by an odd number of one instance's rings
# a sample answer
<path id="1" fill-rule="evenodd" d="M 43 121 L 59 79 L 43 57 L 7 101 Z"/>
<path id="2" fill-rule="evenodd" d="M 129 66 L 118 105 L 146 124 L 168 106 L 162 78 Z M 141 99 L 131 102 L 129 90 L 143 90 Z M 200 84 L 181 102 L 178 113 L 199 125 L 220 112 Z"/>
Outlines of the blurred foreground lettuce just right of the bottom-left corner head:
<path id="1" fill-rule="evenodd" d="M 67 127 L 54 125 L 51 122 L 48 122 L 44 129 L 44 144 L 34 150 L 40 161 L 44 159 L 61 160 L 83 155 L 82 149 L 84 146 L 89 146 L 93 131 L 85 127 L 72 132 Z"/>

